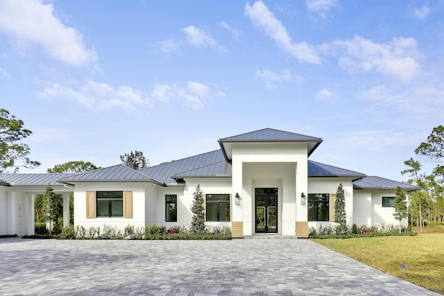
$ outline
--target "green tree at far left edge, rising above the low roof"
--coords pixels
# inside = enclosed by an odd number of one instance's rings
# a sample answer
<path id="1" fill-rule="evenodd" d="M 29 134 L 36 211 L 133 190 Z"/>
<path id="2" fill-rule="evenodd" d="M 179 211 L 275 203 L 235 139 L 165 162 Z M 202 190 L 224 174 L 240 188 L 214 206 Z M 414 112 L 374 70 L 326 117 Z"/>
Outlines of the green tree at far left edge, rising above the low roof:
<path id="1" fill-rule="evenodd" d="M 14 173 L 17 173 L 20 167 L 40 166 L 40 162 L 27 157 L 30 152 L 28 145 L 19 143 L 32 134 L 23 125 L 22 120 L 15 119 L 7 110 L 0 109 L 0 173 L 6 172 L 8 168 L 14 168 Z"/>

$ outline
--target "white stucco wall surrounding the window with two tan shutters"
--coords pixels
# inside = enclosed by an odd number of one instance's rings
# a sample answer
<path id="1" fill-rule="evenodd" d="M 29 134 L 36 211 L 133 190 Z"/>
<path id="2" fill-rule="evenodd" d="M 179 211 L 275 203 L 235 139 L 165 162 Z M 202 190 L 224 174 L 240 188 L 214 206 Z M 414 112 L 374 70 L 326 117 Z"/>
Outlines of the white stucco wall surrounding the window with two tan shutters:
<path id="1" fill-rule="evenodd" d="M 145 186 L 138 182 L 79 182 L 74 191 L 74 226 L 101 227 L 103 225 L 117 226 L 124 229 L 128 225 L 145 226 Z M 97 217 L 86 218 L 86 191 L 133 191 L 133 218 Z"/>

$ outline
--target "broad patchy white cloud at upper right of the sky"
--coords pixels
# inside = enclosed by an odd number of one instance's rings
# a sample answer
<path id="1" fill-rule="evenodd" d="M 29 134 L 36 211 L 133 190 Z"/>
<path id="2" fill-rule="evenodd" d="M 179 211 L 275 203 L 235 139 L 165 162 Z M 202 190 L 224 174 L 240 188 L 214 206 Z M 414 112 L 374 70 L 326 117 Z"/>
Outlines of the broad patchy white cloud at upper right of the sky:
<path id="1" fill-rule="evenodd" d="M 327 54 L 339 55 L 339 65 L 348 71 L 377 71 L 388 76 L 409 80 L 420 71 L 418 51 L 413 38 L 393 38 L 388 43 L 376 43 L 355 36 L 320 46 Z"/>

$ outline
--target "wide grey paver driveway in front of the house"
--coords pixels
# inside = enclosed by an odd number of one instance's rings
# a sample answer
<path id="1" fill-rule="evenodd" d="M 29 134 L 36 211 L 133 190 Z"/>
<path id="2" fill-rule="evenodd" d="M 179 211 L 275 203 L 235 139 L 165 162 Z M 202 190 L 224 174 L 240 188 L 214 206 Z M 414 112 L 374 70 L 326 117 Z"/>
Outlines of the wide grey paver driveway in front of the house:
<path id="1" fill-rule="evenodd" d="M 307 240 L 0 239 L 0 295 L 438 295 Z"/>

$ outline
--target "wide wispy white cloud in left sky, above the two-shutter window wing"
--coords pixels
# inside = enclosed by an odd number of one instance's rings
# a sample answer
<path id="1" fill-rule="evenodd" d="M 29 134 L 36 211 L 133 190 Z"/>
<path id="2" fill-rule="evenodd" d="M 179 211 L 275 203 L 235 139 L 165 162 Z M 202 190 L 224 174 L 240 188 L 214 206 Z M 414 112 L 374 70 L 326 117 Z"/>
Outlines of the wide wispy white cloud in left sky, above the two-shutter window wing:
<path id="1" fill-rule="evenodd" d="M 37 96 L 45 99 L 69 99 L 80 103 L 89 110 L 109 110 L 113 107 L 123 107 L 126 110 L 138 110 L 148 106 L 148 101 L 142 97 L 139 90 L 131 87 L 114 89 L 111 85 L 87 80 L 78 90 L 53 83 L 37 92 Z"/>

